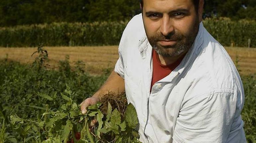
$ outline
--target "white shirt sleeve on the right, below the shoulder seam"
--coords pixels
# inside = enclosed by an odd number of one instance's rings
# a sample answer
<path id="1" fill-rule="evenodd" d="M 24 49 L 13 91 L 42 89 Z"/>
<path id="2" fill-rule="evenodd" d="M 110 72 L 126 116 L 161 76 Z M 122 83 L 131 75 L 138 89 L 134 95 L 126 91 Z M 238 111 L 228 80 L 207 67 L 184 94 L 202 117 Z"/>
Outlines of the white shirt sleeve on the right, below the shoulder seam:
<path id="1" fill-rule="evenodd" d="M 233 141 L 246 143 L 241 133 L 243 121 L 233 121 L 241 112 L 236 101 L 233 93 L 220 92 L 199 96 L 184 104 L 176 121 L 173 143 L 226 143 L 232 130 L 238 135 Z"/>

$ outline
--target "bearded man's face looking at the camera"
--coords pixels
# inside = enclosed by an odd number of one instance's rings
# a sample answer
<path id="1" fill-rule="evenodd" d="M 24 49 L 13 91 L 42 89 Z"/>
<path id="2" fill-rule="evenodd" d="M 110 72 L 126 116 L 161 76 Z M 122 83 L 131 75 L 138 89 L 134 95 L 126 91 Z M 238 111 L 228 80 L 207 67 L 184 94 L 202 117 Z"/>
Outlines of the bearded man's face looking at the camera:
<path id="1" fill-rule="evenodd" d="M 143 22 L 151 46 L 163 57 L 176 57 L 192 46 L 199 28 L 192 0 L 144 0 Z"/>

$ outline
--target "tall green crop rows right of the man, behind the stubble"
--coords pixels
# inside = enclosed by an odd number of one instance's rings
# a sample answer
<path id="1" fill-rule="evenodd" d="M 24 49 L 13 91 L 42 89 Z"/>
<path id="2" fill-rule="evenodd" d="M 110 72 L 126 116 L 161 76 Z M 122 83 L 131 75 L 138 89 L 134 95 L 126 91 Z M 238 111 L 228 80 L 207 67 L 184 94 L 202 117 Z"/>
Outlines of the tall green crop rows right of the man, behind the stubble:
<path id="1" fill-rule="evenodd" d="M 248 47 L 248 39 L 251 39 L 251 47 L 256 47 L 256 41 L 253 40 L 256 34 L 256 21 L 231 21 L 229 18 L 214 18 L 205 19 L 203 24 L 223 46 Z"/>

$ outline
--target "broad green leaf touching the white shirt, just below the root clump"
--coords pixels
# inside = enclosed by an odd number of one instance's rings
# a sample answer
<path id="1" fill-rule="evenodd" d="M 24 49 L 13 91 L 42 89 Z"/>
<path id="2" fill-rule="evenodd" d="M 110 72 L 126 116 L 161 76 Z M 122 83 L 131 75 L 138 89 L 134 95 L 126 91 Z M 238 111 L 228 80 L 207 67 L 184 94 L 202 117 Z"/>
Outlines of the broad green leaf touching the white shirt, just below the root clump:
<path id="1" fill-rule="evenodd" d="M 131 103 L 126 108 L 125 121 L 127 125 L 133 129 L 135 129 L 139 123 L 136 110 Z"/>

